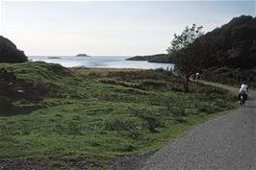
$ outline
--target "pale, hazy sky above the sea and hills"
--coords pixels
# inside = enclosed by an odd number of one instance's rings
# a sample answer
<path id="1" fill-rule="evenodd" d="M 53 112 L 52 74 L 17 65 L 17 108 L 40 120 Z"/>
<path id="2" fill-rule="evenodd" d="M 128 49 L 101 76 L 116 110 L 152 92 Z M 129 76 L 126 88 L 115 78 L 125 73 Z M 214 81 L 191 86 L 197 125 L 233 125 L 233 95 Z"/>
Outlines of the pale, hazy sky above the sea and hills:
<path id="1" fill-rule="evenodd" d="M 187 25 L 208 32 L 242 14 L 255 1 L 2 1 L 0 35 L 28 56 L 150 55 Z"/>

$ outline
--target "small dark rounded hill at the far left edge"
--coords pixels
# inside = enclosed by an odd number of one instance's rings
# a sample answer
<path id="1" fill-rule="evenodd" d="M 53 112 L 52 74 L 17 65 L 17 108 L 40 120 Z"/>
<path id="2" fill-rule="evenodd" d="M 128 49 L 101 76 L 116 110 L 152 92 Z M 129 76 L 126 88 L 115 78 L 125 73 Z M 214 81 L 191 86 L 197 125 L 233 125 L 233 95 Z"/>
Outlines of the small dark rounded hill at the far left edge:
<path id="1" fill-rule="evenodd" d="M 16 48 L 8 38 L 0 36 L 0 62 L 24 62 L 28 61 L 23 51 Z"/>

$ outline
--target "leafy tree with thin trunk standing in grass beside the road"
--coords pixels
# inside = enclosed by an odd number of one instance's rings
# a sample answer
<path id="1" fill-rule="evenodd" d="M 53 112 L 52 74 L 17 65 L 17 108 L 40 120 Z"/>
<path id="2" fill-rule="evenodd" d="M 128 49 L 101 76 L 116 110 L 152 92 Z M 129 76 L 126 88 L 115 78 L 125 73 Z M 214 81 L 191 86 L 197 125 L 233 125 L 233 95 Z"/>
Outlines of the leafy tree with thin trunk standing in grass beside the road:
<path id="1" fill-rule="evenodd" d="M 175 62 L 175 70 L 185 77 L 184 90 L 189 91 L 189 77 L 192 72 L 198 71 L 198 61 L 192 53 L 191 45 L 196 38 L 202 36 L 202 26 L 192 24 L 187 26 L 181 35 L 174 34 L 171 46 L 167 48 L 169 57 Z"/>

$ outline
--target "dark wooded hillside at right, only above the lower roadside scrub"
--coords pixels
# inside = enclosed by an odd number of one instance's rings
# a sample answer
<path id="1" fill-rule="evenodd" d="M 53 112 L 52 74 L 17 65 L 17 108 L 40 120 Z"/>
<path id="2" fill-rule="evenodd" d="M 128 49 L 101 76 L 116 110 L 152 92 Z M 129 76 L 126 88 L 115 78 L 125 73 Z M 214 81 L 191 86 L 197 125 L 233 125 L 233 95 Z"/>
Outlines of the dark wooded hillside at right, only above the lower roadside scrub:
<path id="1" fill-rule="evenodd" d="M 256 18 L 242 15 L 195 39 L 188 47 L 198 68 L 256 66 Z"/>

